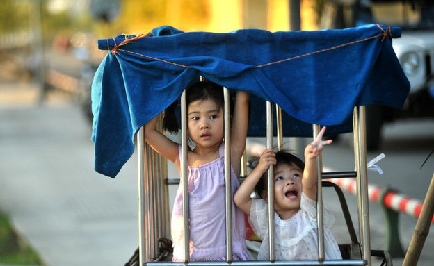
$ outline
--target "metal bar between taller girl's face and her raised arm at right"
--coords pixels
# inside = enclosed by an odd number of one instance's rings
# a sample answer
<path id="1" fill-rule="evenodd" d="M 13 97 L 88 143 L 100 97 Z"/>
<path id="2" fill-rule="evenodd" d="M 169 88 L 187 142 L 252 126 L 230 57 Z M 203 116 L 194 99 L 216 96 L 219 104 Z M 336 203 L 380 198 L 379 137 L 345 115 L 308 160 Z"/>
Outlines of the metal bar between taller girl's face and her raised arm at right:
<path id="1" fill-rule="evenodd" d="M 226 204 L 226 260 L 232 262 L 232 183 L 230 172 L 230 99 L 229 90 L 223 88 L 225 99 L 225 204 Z"/>

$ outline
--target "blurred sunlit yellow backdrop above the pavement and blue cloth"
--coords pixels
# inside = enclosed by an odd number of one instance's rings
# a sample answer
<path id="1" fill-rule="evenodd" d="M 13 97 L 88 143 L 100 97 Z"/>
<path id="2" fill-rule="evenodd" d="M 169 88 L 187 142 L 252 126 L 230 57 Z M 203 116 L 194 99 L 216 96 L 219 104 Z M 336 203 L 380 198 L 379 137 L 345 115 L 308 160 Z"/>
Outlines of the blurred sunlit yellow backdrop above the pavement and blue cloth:
<path id="1" fill-rule="evenodd" d="M 32 81 L 80 94 L 79 78 L 106 51 L 97 39 L 138 35 L 158 26 L 182 31 L 240 28 L 288 31 L 288 0 L 3 0 L 0 6 L 0 81 Z M 297 1 L 292 28 L 315 30 L 321 0 Z M 297 18 L 296 18 L 297 19 Z M 60 61 L 70 62 L 70 67 Z M 72 67 L 76 65 L 77 67 Z M 83 73 L 85 72 L 85 73 Z M 90 72 L 90 70 L 89 70 Z M 62 80 L 62 81 L 61 81 Z M 8 95 L 3 92 L 3 98 Z M 9 96 L 10 97 L 10 96 Z"/>

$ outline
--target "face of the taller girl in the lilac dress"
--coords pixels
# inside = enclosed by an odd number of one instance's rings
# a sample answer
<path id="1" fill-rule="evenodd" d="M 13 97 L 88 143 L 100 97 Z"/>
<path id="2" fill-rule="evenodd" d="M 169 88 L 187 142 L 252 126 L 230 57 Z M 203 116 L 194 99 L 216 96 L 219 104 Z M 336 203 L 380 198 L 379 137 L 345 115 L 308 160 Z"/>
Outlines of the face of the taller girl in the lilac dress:
<path id="1" fill-rule="evenodd" d="M 188 105 L 188 135 L 196 147 L 220 146 L 223 141 L 223 108 L 214 101 L 205 99 Z"/>

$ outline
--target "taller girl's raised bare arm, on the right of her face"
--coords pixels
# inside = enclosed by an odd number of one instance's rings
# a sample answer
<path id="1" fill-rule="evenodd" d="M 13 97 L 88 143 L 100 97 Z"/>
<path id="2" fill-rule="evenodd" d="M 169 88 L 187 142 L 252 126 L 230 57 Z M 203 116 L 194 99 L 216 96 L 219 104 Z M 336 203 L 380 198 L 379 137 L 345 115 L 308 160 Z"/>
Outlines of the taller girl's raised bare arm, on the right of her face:
<path id="1" fill-rule="evenodd" d="M 241 90 L 236 91 L 234 115 L 231 124 L 231 165 L 237 176 L 241 170 L 241 156 L 246 148 L 248 128 L 248 103 L 250 94 Z"/>

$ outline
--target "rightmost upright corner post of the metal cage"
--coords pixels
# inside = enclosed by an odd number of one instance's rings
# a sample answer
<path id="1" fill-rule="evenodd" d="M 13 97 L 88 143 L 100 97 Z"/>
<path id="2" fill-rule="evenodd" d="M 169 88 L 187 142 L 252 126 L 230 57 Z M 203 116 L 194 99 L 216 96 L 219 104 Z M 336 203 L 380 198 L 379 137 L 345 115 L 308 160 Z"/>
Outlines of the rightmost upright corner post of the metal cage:
<path id="1" fill-rule="evenodd" d="M 367 260 L 367 265 L 371 265 L 371 237 L 369 233 L 369 198 L 368 198 L 368 176 L 367 176 L 367 159 L 366 159 L 366 117 L 364 106 L 360 106 L 360 142 L 359 142 L 359 159 L 360 159 L 360 174 L 357 178 L 360 180 L 361 190 L 361 213 L 362 213 L 362 254 L 364 260 Z"/>

